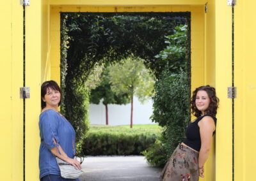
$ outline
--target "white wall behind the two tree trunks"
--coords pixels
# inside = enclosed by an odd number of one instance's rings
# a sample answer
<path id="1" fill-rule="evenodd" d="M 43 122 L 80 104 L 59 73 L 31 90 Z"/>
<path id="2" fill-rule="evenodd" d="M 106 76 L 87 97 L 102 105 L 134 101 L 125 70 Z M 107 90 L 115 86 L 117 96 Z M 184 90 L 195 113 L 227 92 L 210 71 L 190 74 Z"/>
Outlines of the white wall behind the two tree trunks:
<path id="1" fill-rule="evenodd" d="M 133 124 L 156 124 L 149 117 L 152 115 L 152 100 L 146 101 L 143 105 L 134 96 L 133 100 Z M 105 106 L 90 105 L 89 120 L 91 124 L 106 124 Z M 130 124 L 131 120 L 131 103 L 127 105 L 108 105 L 108 122 L 109 125 Z"/>

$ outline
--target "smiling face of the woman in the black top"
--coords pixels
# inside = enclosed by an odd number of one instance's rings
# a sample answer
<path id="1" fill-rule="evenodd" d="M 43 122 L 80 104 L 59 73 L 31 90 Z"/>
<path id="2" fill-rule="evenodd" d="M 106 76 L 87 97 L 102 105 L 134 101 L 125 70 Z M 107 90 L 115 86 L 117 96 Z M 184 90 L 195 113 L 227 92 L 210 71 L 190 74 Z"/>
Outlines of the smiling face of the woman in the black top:
<path id="1" fill-rule="evenodd" d="M 205 110 L 210 105 L 210 98 L 206 91 L 198 91 L 196 94 L 196 108 L 202 112 L 202 114 L 205 113 Z"/>

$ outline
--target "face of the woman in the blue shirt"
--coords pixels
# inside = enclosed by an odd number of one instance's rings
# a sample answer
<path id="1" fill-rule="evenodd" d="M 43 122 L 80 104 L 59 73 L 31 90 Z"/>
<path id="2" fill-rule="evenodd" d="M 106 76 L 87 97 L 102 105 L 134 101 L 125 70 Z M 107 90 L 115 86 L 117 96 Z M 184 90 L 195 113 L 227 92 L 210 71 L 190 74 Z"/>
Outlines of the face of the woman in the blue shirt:
<path id="1" fill-rule="evenodd" d="M 48 87 L 46 94 L 44 95 L 43 101 L 46 106 L 55 107 L 60 103 L 60 92 Z"/>

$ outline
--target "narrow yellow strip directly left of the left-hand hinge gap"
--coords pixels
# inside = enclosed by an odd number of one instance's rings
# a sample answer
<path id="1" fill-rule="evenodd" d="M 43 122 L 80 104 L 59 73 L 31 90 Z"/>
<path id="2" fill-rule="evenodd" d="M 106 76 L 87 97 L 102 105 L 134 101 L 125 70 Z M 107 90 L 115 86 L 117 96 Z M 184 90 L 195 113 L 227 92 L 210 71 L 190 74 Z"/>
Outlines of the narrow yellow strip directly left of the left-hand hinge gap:
<path id="1" fill-rule="evenodd" d="M 12 4 L 12 179 L 22 180 L 23 99 L 20 99 L 19 88 L 23 86 L 23 8 L 17 1 Z"/>

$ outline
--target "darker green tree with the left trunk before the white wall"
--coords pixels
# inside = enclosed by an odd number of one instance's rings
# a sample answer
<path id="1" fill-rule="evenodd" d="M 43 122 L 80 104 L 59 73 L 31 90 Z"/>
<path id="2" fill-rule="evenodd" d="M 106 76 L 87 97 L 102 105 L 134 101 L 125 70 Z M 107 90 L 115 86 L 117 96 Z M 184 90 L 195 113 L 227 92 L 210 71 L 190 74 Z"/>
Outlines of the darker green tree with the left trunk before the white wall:
<path id="1" fill-rule="evenodd" d="M 90 103 L 98 105 L 103 99 L 102 103 L 106 109 L 106 125 L 108 125 L 108 104 L 125 105 L 129 103 L 128 94 L 116 94 L 111 89 L 109 78 L 109 66 L 106 66 L 100 75 L 100 85 L 92 89 L 90 94 Z"/>

